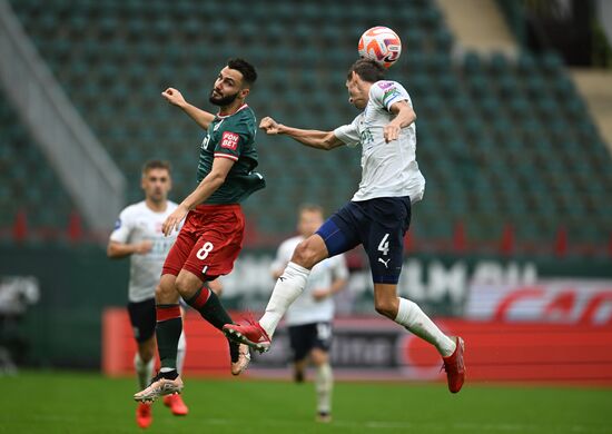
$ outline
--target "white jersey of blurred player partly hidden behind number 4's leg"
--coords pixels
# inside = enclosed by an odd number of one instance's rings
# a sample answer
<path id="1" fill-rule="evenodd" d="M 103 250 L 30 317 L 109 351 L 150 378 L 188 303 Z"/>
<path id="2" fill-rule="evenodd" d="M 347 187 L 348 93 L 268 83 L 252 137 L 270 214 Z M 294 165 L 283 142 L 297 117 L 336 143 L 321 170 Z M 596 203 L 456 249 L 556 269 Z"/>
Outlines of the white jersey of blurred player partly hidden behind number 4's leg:
<path id="1" fill-rule="evenodd" d="M 304 239 L 302 236 L 289 238 L 278 247 L 272 270 L 283 270 L 292 259 L 296 246 Z M 287 325 L 330 322 L 334 318 L 334 298 L 320 302 L 313 298 L 315 289 L 328 288 L 337 278 L 348 278 L 348 268 L 344 255 L 337 255 L 315 265 L 308 276 L 304 292 L 289 306 L 285 320 Z"/>

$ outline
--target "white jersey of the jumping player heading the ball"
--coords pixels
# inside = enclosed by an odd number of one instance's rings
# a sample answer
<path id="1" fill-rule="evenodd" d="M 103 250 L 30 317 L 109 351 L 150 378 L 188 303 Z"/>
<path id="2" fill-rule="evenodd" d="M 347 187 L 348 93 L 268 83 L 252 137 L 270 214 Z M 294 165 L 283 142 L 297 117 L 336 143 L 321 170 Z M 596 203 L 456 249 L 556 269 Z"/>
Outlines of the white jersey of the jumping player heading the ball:
<path id="1" fill-rule="evenodd" d="M 352 124 L 338 127 L 335 136 L 349 147 L 362 145 L 362 181 L 353 200 L 375 197 L 409 196 L 415 203 L 423 198 L 425 178 L 416 162 L 416 126 L 402 128 L 399 138 L 385 142 L 383 128 L 394 118 L 391 106 L 406 100 L 406 89 L 396 81 L 377 81 L 369 89 L 365 110 Z"/>

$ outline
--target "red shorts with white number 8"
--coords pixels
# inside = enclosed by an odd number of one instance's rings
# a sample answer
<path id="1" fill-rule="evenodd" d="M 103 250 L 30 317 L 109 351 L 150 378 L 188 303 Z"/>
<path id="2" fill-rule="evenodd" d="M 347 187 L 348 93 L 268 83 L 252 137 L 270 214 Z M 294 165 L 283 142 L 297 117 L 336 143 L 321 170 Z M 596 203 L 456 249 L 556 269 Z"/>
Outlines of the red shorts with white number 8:
<path id="1" fill-rule="evenodd" d="M 243 248 L 245 216 L 239 205 L 198 205 L 187 214 L 161 274 L 186 269 L 203 282 L 229 274 Z"/>

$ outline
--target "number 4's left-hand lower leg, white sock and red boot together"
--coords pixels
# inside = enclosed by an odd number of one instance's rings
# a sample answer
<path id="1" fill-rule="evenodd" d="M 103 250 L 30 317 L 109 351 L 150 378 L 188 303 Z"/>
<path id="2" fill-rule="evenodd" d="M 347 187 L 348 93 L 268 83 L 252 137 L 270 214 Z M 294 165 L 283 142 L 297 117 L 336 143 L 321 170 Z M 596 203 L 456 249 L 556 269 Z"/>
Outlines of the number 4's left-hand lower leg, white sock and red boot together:
<path id="1" fill-rule="evenodd" d="M 269 349 L 272 336 L 289 305 L 302 294 L 310 270 L 303 266 L 289 263 L 283 276 L 276 280 L 266 313 L 258 323 L 228 324 L 224 326 L 225 335 L 265 353 Z"/>

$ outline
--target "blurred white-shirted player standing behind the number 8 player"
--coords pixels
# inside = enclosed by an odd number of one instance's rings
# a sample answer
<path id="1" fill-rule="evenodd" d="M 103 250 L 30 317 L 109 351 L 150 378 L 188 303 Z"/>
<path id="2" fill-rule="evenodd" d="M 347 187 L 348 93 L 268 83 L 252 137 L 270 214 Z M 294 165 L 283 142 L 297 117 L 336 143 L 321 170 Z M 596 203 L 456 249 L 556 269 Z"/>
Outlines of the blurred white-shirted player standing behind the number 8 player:
<path id="1" fill-rule="evenodd" d="M 107 254 L 110 258 L 130 257 L 128 313 L 138 344 L 134 367 L 138 375 L 138 384 L 144 388 L 152 377 L 155 364 L 155 288 L 166 255 L 176 239 L 176 235 L 164 236 L 161 224 L 176 210 L 177 204 L 168 200 L 168 193 L 172 186 L 169 162 L 146 162 L 140 183 L 145 200 L 121 211 L 110 235 Z M 185 334 L 181 333 L 177 346 L 179 372 L 182 372 L 185 349 Z M 175 415 L 186 415 L 189 411 L 178 394 L 168 395 L 165 404 Z M 138 405 L 136 422 L 144 428 L 151 424 L 150 405 Z"/>

